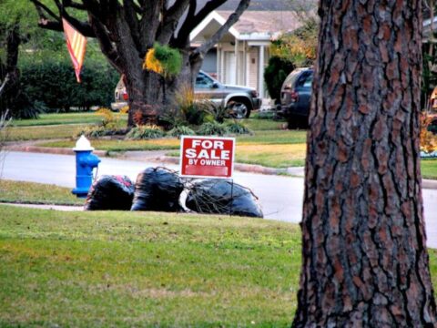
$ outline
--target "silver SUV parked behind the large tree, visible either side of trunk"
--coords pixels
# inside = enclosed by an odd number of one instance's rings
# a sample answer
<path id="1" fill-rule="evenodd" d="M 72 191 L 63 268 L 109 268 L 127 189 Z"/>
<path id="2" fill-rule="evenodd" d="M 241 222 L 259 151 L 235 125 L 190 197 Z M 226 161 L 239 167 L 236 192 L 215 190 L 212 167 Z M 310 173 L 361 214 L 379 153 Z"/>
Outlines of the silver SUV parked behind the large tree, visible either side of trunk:
<path id="1" fill-rule="evenodd" d="M 203 71 L 198 73 L 194 92 L 219 106 L 228 107 L 235 118 L 249 118 L 250 112 L 253 109 L 259 109 L 261 104 L 256 89 L 224 85 Z M 115 98 L 116 101 L 111 104 L 113 110 L 120 110 L 127 106 L 129 97 L 123 78 L 120 78 L 117 83 Z"/>

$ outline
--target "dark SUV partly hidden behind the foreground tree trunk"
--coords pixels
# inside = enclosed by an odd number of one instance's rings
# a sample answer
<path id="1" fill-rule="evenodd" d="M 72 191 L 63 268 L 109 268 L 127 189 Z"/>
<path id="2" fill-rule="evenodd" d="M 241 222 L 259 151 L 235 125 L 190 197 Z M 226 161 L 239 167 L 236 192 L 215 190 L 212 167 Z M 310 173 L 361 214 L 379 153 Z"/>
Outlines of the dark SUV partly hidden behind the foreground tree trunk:
<path id="1" fill-rule="evenodd" d="M 279 115 L 287 118 L 290 128 L 308 126 L 313 73 L 312 68 L 297 68 L 280 88 Z"/>

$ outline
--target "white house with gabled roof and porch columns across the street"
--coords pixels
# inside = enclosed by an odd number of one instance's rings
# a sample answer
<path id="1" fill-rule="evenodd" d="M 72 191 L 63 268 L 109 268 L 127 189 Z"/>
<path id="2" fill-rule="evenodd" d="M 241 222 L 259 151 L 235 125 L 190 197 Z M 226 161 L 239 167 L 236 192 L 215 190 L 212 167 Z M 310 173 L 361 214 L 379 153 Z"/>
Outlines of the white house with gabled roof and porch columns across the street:
<path id="1" fill-rule="evenodd" d="M 223 26 L 232 11 L 214 11 L 191 33 L 193 46 L 208 40 Z M 202 69 L 226 84 L 255 87 L 268 97 L 264 68 L 272 39 L 301 26 L 295 11 L 245 11 L 217 46 L 208 53 Z"/>

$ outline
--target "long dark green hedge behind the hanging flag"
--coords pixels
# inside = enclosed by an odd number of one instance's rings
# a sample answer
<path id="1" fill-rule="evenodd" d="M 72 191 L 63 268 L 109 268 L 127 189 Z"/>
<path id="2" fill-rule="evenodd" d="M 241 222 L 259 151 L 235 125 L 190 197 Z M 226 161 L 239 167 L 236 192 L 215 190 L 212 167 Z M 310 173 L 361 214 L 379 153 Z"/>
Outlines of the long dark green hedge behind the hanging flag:
<path id="1" fill-rule="evenodd" d="M 92 106 L 109 107 L 114 99 L 117 72 L 105 62 L 86 62 L 81 83 L 67 61 L 21 63 L 22 84 L 27 97 L 45 105 L 47 111 L 87 110 Z"/>

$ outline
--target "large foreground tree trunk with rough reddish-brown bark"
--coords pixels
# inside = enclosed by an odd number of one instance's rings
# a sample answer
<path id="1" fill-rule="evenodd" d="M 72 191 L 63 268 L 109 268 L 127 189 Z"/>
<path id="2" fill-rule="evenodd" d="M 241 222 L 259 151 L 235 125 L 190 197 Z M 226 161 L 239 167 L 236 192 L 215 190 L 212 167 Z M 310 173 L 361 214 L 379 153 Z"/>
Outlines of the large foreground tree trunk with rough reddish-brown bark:
<path id="1" fill-rule="evenodd" d="M 420 0 L 320 0 L 293 327 L 435 327 Z"/>

